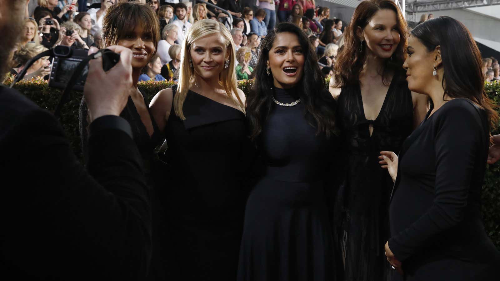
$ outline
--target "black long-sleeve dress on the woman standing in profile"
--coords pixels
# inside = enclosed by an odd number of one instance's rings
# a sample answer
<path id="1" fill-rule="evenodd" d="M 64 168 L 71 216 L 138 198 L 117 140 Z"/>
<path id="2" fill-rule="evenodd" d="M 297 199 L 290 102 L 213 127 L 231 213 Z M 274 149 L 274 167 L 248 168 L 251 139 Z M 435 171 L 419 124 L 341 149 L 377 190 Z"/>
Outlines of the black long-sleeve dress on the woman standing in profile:
<path id="1" fill-rule="evenodd" d="M 486 114 L 463 98 L 430 111 L 399 153 L 389 248 L 406 280 L 500 280 L 500 253 L 481 220 Z"/>

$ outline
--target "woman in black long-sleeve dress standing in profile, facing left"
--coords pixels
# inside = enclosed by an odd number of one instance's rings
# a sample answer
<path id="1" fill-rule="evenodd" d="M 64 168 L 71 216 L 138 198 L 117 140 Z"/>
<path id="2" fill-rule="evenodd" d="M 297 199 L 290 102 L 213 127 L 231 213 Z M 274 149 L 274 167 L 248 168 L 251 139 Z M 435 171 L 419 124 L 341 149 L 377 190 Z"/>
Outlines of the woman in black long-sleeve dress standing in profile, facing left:
<path id="1" fill-rule="evenodd" d="M 500 253 L 480 213 L 498 116 L 484 92 L 479 49 L 462 23 L 440 16 L 411 31 L 407 51 L 408 87 L 433 106 L 398 159 L 382 153 L 395 178 L 387 259 L 405 280 L 498 280 Z"/>

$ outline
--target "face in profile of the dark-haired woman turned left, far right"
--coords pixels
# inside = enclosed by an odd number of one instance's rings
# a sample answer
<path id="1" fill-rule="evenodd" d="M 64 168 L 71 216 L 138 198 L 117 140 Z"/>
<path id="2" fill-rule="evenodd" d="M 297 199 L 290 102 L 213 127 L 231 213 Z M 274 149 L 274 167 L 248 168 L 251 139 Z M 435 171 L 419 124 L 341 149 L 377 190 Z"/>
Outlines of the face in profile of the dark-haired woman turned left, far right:
<path id="1" fill-rule="evenodd" d="M 427 93 L 426 88 L 433 77 L 434 52 L 427 51 L 427 48 L 414 36 L 409 36 L 406 51 L 408 56 L 403 68 L 406 69 L 408 88 L 414 92 Z"/>

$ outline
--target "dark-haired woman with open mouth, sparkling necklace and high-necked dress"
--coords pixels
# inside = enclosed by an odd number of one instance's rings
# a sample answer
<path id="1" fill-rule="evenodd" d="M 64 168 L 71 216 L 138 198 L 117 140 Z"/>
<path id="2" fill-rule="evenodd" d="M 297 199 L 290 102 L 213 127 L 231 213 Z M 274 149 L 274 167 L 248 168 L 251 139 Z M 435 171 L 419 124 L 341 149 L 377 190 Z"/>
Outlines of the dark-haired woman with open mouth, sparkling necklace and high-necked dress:
<path id="1" fill-rule="evenodd" d="M 254 72 L 246 112 L 265 165 L 246 202 L 237 280 L 334 280 L 325 178 L 333 176 L 335 101 L 295 24 L 265 36 Z"/>

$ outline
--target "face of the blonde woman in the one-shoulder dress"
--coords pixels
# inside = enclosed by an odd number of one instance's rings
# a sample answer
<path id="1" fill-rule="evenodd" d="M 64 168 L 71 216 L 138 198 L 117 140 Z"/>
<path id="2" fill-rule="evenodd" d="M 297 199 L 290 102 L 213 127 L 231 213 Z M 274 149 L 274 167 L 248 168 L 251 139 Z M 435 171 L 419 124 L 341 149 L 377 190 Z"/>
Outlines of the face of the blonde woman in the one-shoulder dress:
<path id="1" fill-rule="evenodd" d="M 195 40 L 189 49 L 194 74 L 204 80 L 217 79 L 228 57 L 224 38 L 211 34 Z"/>

